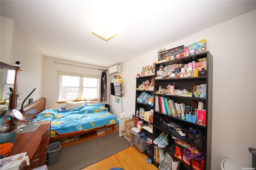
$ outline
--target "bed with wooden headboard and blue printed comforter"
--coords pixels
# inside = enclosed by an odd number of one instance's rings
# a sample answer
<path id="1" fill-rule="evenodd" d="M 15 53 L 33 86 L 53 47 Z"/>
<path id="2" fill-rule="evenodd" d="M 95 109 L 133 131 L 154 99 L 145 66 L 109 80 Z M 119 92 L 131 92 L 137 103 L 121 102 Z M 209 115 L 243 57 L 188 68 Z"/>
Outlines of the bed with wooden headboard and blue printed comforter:
<path id="1" fill-rule="evenodd" d="M 112 128 L 119 124 L 116 116 L 109 113 L 102 103 L 84 104 L 74 109 L 46 109 L 41 98 L 23 108 L 26 122 L 51 120 L 51 131 L 56 132 L 50 142 L 78 136 L 80 134 Z M 76 102 L 75 102 L 76 103 Z"/>

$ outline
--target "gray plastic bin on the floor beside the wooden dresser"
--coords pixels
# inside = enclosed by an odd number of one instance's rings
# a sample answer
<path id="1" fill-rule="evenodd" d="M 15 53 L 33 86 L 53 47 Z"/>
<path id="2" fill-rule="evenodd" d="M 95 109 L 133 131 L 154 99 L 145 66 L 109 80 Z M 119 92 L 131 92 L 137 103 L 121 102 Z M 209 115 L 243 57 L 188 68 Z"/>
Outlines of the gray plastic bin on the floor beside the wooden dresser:
<path id="1" fill-rule="evenodd" d="M 58 162 L 60 153 L 60 142 L 54 142 L 48 148 L 48 165 L 56 164 Z"/>

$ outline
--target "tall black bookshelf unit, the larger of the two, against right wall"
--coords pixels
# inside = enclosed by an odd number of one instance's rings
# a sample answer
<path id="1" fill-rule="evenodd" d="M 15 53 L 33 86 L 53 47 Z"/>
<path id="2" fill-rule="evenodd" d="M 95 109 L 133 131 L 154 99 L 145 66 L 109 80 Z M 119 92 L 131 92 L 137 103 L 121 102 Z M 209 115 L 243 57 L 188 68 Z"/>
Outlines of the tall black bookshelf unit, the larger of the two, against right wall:
<path id="1" fill-rule="evenodd" d="M 175 78 L 175 79 L 162 79 L 157 77 L 157 71 L 159 70 L 160 66 L 162 67 L 169 67 L 173 64 L 179 64 L 182 63 L 184 65 L 195 61 L 197 62 L 198 59 L 206 58 L 206 76 L 202 77 L 186 77 L 186 78 Z M 209 51 L 206 51 L 204 53 L 192 55 L 189 57 L 184 57 L 180 59 L 175 59 L 172 61 L 157 63 L 155 65 L 155 84 L 154 84 L 154 117 L 153 117 L 153 140 L 157 138 L 160 133 L 164 132 L 165 134 L 168 134 L 170 143 L 166 148 L 163 148 L 164 152 L 168 152 L 173 158 L 175 157 L 173 152 L 170 152 L 170 146 L 172 144 L 175 144 L 174 138 L 179 138 L 179 136 L 176 136 L 173 134 L 167 127 L 167 123 L 177 123 L 184 127 L 185 129 L 196 129 L 200 128 L 204 132 L 204 146 L 203 147 L 197 147 L 199 150 L 202 150 L 204 152 L 205 158 L 204 158 L 204 165 L 203 168 L 200 168 L 200 170 L 208 170 L 211 169 L 211 139 L 212 139 L 212 55 Z M 175 84 L 174 84 L 175 83 Z M 175 89 L 186 89 L 187 91 L 191 92 L 192 87 L 194 84 L 206 84 L 206 99 L 204 98 L 197 98 L 197 97 L 186 97 L 181 95 L 169 95 L 166 93 L 158 93 L 159 87 L 162 86 L 162 89 L 166 89 L 168 85 L 173 85 Z M 162 97 L 162 98 L 161 98 Z M 160 98 L 160 99 L 159 99 Z M 164 101 L 164 98 L 167 98 L 167 100 Z M 162 103 L 165 103 L 165 106 L 160 103 L 160 100 L 162 100 Z M 168 104 L 168 100 L 174 101 L 174 103 L 180 104 L 184 103 L 186 106 L 193 106 L 192 103 L 196 103 L 198 105 L 198 102 L 203 103 L 203 109 L 206 111 L 206 117 L 204 119 L 206 120 L 206 126 L 200 125 L 198 123 L 192 123 L 189 121 L 186 121 L 186 119 L 183 117 L 181 118 L 178 114 L 178 117 L 174 117 L 172 115 L 172 112 L 176 110 L 172 110 L 171 104 Z M 158 103 L 158 106 L 156 106 Z M 163 106 L 161 109 L 159 106 Z M 174 107 L 176 107 L 174 105 Z M 178 111 L 179 112 L 179 111 Z M 166 114 L 164 114 L 166 113 Z M 180 114 L 182 115 L 182 114 Z M 183 114 L 184 115 L 184 114 Z M 162 121 L 164 120 L 164 121 Z M 196 120 L 197 121 L 197 120 Z M 166 125 L 164 125 L 165 122 Z M 161 124 L 162 123 L 162 124 Z M 166 126 L 167 128 L 164 128 Z M 173 138 L 173 137 L 174 138 Z M 196 147 L 191 140 L 189 140 L 189 135 L 186 133 L 186 138 L 182 139 L 182 141 L 187 142 L 193 147 Z M 152 148 L 154 148 L 154 144 L 152 144 Z M 174 147 L 175 148 L 175 147 Z M 155 154 L 155 153 L 154 153 Z M 154 155 L 153 154 L 153 155 Z M 154 156 L 152 159 L 153 164 L 158 167 L 159 163 L 155 161 Z M 194 164 L 190 164 L 190 166 L 187 165 L 185 162 L 181 162 L 181 166 L 183 166 L 186 169 L 193 169 Z M 190 161 L 193 162 L 193 161 Z"/>

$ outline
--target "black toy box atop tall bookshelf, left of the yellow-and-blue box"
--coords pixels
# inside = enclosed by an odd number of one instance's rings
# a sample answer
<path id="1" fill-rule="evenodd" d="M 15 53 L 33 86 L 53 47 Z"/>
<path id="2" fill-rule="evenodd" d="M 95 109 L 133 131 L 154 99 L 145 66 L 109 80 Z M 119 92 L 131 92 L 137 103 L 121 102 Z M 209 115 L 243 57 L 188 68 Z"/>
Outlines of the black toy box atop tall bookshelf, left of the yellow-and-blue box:
<path id="1" fill-rule="evenodd" d="M 183 49 L 184 49 L 184 45 L 181 45 L 179 47 L 168 49 L 166 51 L 158 52 L 158 61 L 161 61 L 161 60 L 171 61 L 174 59 L 178 59 L 181 57 L 181 54 L 183 53 Z"/>

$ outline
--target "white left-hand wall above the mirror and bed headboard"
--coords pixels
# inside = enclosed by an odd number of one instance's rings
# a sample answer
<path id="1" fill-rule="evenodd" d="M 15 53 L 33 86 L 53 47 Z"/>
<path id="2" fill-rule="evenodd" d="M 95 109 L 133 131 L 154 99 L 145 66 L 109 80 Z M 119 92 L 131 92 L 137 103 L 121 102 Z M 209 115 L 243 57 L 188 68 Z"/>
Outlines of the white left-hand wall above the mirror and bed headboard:
<path id="1" fill-rule="evenodd" d="M 38 51 L 28 37 L 16 26 L 14 20 L 1 16 L 1 57 L 7 64 L 20 61 L 18 75 L 18 92 L 22 93 L 23 101 L 29 93 L 36 88 L 29 97 L 34 100 L 42 97 L 43 55 Z M 28 100 L 24 105 L 28 104 Z"/>

